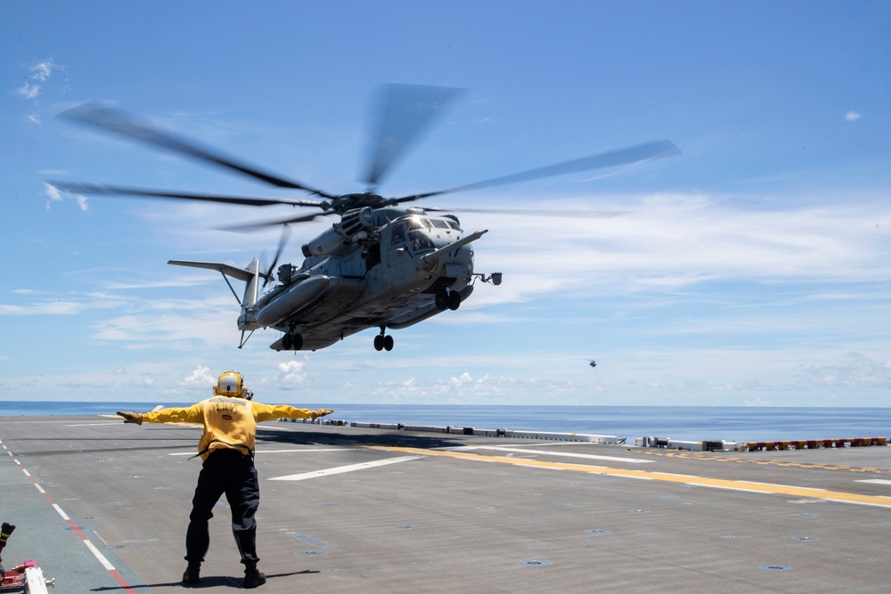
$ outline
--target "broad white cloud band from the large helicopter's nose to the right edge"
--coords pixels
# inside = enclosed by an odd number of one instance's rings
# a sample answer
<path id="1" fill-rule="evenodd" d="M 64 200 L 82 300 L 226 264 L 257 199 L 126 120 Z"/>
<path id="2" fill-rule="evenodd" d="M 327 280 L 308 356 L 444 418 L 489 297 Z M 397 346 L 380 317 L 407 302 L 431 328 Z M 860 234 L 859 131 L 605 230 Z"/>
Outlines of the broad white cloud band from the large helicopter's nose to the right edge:
<path id="1" fill-rule="evenodd" d="M 500 287 L 478 286 L 468 306 L 568 291 L 615 296 L 704 281 L 891 274 L 883 237 L 868 232 L 887 212 L 844 204 L 740 210 L 747 203 L 677 194 L 644 199 L 631 214 L 609 220 L 474 216 L 471 223 L 465 217 L 465 228 L 498 229 L 478 241 L 477 271 L 504 273 Z"/>

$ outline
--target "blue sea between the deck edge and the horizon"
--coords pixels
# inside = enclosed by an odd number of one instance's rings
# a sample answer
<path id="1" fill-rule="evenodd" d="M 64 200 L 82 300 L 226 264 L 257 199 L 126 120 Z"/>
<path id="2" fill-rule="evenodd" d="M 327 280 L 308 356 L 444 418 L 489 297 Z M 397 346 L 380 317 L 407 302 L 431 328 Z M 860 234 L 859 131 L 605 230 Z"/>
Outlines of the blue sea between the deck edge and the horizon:
<path id="1" fill-rule="evenodd" d="M 100 415 L 151 411 L 159 404 L 192 403 L 24 402 L 0 400 L 0 416 Z M 304 403 L 334 408 L 328 419 L 403 423 L 431 427 L 476 427 L 667 437 L 683 441 L 736 442 L 891 437 L 891 408 L 732 406 L 446 406 L 430 404 Z"/>

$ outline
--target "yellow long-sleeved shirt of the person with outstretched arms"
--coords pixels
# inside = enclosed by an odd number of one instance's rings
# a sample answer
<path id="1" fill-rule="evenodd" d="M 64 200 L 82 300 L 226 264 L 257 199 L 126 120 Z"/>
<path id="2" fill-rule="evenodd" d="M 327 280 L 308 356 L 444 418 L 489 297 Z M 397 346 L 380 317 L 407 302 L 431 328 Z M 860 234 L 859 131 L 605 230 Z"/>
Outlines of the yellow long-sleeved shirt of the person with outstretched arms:
<path id="1" fill-rule="evenodd" d="M 255 403 L 244 398 L 214 396 L 188 408 L 169 408 L 143 413 L 143 423 L 202 423 L 198 443 L 201 460 L 218 448 L 254 454 L 257 423 L 269 419 L 312 419 L 315 411 L 287 404 Z"/>

